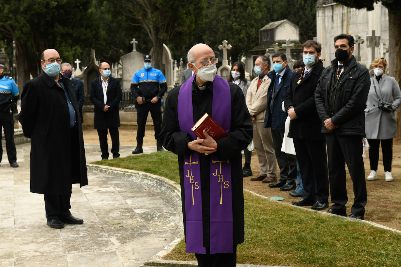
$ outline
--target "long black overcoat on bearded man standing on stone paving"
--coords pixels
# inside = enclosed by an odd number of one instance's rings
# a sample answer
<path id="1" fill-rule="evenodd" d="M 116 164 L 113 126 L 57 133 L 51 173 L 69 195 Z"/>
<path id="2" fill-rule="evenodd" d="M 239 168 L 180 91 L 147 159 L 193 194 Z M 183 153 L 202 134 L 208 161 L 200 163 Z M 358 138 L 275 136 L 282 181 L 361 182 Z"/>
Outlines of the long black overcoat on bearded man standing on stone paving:
<path id="1" fill-rule="evenodd" d="M 61 75 L 75 112 L 78 102 L 71 80 Z M 81 118 L 71 132 L 63 88 L 42 72 L 24 84 L 18 120 L 30 141 L 30 192 L 64 195 L 71 185 L 88 184 Z"/>

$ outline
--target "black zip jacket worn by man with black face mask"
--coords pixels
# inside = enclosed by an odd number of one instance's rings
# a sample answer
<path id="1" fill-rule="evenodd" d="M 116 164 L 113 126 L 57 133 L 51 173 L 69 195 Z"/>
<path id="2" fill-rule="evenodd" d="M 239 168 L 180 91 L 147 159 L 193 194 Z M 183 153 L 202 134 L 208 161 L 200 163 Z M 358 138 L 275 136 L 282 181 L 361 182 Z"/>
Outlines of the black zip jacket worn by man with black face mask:
<path id="1" fill-rule="evenodd" d="M 316 109 L 322 121 L 322 132 L 338 135 L 359 135 L 365 137 L 365 106 L 371 86 L 369 71 L 354 56 L 343 62 L 344 71 L 340 75 L 337 86 L 336 70 L 338 60 L 324 69 L 315 92 Z M 334 106 L 330 105 L 330 92 L 334 98 Z M 331 118 L 338 128 L 329 131 L 324 121 Z"/>

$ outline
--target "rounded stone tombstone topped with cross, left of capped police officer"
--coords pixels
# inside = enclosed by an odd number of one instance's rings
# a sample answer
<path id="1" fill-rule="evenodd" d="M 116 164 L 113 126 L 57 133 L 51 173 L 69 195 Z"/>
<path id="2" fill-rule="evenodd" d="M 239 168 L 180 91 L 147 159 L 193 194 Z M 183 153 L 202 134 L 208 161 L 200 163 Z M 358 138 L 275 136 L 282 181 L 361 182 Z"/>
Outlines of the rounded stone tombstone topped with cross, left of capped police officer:
<path id="1" fill-rule="evenodd" d="M 121 87 L 123 92 L 131 92 L 132 77 L 137 70 L 144 68 L 144 54 L 136 51 L 136 44 L 138 41 L 135 38 L 132 39 L 131 44 L 133 45 L 132 52 L 125 54 L 120 58 L 122 64 L 122 74 L 119 72 L 119 76 L 122 77 Z"/>

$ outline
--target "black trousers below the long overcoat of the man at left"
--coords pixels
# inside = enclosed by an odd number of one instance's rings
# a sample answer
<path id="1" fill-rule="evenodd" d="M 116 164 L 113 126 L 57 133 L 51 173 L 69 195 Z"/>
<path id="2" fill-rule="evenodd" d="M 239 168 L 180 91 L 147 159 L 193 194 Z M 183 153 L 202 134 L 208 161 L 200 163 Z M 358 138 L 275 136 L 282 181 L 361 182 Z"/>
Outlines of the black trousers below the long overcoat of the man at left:
<path id="1" fill-rule="evenodd" d="M 67 195 L 47 195 L 45 194 L 45 209 L 47 221 L 61 219 L 71 215 L 70 198 Z"/>

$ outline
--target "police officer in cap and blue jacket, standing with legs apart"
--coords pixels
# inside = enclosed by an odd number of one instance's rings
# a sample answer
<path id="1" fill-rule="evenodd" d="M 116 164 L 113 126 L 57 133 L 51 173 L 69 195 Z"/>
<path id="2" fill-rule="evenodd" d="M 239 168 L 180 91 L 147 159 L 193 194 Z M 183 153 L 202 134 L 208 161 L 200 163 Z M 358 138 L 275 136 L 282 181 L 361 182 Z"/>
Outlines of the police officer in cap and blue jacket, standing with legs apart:
<path id="1" fill-rule="evenodd" d="M 154 125 L 154 138 L 160 133 L 162 125 L 161 98 L 167 91 L 166 78 L 162 72 L 152 67 L 153 58 L 151 55 L 144 56 L 144 68 L 135 72 L 131 82 L 131 92 L 136 98 L 138 114 L 138 131 L 136 134 L 136 149 L 132 154 L 143 153 L 142 144 L 145 136 L 146 119 L 150 111 Z M 160 90 L 159 90 L 160 87 Z M 156 141 L 157 151 L 163 151 L 160 142 Z"/>

